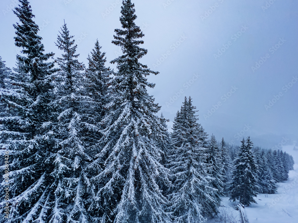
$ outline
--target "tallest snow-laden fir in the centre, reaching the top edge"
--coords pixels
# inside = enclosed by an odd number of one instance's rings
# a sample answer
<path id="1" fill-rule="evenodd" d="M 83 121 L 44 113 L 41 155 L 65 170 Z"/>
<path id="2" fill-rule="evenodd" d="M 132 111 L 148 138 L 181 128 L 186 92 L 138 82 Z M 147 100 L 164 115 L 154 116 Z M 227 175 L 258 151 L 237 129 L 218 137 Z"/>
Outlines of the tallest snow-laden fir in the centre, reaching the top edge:
<path id="1" fill-rule="evenodd" d="M 146 76 L 158 72 L 139 62 L 147 54 L 139 47 L 144 34 L 134 22 L 134 4 L 130 0 L 122 4 L 123 29 L 115 29 L 112 43 L 122 48 L 123 55 L 112 61 L 118 71 L 102 121 L 103 149 L 97 156 L 104 169 L 93 179 L 101 182 L 98 218 L 114 223 L 164 222 L 167 198 L 158 182 L 169 180 L 168 170 L 159 163 L 162 150 L 155 143 L 162 128 L 156 116 L 160 106 L 146 89 L 154 87 Z"/>

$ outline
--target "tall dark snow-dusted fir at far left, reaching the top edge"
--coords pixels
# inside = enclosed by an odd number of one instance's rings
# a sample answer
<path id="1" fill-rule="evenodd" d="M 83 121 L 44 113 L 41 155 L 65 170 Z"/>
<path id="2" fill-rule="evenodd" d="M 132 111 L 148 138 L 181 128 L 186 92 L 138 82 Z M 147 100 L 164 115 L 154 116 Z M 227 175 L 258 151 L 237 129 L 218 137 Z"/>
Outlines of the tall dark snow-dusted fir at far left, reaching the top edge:
<path id="1" fill-rule="evenodd" d="M 10 151 L 10 215 L 1 217 L 1 222 L 25 222 L 35 219 L 46 200 L 51 167 L 47 158 L 48 132 L 43 123 L 47 121 L 46 104 L 51 98 L 54 63 L 47 62 L 54 54 L 44 54 L 38 26 L 32 20 L 31 7 L 27 0 L 20 0 L 15 8 L 15 45 L 21 47 L 17 55 L 10 86 L 1 89 L 2 101 L 6 103 L 9 116 L 1 126 L 1 144 Z M 3 190 L 1 190 L 3 191 Z M 1 203 L 3 205 L 3 203 Z M 3 216 L 3 215 L 1 215 Z"/>

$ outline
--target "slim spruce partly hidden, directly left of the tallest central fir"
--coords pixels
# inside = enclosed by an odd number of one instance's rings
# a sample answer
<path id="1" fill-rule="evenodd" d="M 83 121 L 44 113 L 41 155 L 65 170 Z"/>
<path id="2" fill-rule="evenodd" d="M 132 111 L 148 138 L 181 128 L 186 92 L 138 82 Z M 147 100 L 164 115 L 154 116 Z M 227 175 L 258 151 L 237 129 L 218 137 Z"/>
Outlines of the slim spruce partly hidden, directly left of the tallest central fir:
<path id="1" fill-rule="evenodd" d="M 85 95 L 89 95 L 96 106 L 92 107 L 91 112 L 93 118 L 90 120 L 92 124 L 96 125 L 97 128 L 102 129 L 103 125 L 100 125 L 103 117 L 106 114 L 108 106 L 108 98 L 110 96 L 110 85 L 111 85 L 111 75 L 113 70 L 110 67 L 105 67 L 106 57 L 105 52 L 101 52 L 101 46 L 98 40 L 95 42 L 94 49 L 91 51 L 91 56 L 88 56 L 88 69 L 86 69 L 85 75 Z M 90 114 L 90 110 L 89 110 Z M 90 122 L 89 121 L 89 122 Z M 100 215 L 103 210 L 99 209 L 101 200 L 97 197 L 97 188 L 100 187 L 101 182 L 98 180 L 98 174 L 104 168 L 103 160 L 106 158 L 96 157 L 96 155 L 101 151 L 102 146 L 100 145 L 100 139 L 103 135 L 100 132 L 94 134 L 94 131 L 88 131 L 89 136 L 86 137 L 89 140 L 89 153 L 93 158 L 93 161 L 87 166 L 86 171 L 88 172 L 88 177 L 90 178 L 89 197 L 88 197 L 88 212 L 92 218 L 96 219 L 96 216 Z M 100 213 L 100 214 L 99 214 Z"/>

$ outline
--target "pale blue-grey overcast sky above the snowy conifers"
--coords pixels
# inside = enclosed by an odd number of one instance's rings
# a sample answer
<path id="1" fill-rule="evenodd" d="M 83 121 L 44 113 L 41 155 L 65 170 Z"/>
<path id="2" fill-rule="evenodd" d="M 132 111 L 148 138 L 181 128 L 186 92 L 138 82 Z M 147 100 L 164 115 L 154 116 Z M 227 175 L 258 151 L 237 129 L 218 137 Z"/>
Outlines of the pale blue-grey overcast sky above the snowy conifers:
<path id="1" fill-rule="evenodd" d="M 298 140 L 297 0 L 135 0 L 136 24 L 148 54 L 141 60 L 156 83 L 148 89 L 170 119 L 184 96 L 193 98 L 199 122 L 217 140 L 274 147 Z M 79 60 L 96 39 L 107 60 L 120 55 L 111 43 L 119 22 L 120 0 L 31 0 L 46 52 L 53 51 L 63 19 L 75 36 Z M 12 12 L 16 0 L 0 1 L 0 55 L 15 66 Z M 113 68 L 109 63 L 107 66 Z M 284 137 L 284 138 L 283 138 Z"/>

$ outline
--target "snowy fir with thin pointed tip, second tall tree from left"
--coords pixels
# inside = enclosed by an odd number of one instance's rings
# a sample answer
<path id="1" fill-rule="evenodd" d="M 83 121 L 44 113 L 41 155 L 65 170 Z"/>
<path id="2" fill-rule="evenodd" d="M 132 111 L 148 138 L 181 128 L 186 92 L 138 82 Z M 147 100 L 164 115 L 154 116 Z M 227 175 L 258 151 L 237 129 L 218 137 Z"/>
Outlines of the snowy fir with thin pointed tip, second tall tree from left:
<path id="1" fill-rule="evenodd" d="M 54 170 L 51 184 L 53 205 L 49 207 L 49 222 L 89 222 L 86 198 L 89 178 L 85 171 L 92 161 L 89 147 L 92 136 L 98 133 L 97 103 L 86 89 L 90 80 L 84 76 L 84 65 L 78 62 L 77 45 L 64 23 L 56 45 L 63 51 L 57 59 L 59 72 L 56 98 L 50 103 L 55 111 L 52 131 L 55 135 Z M 91 145 L 90 145 L 91 144 Z"/>

